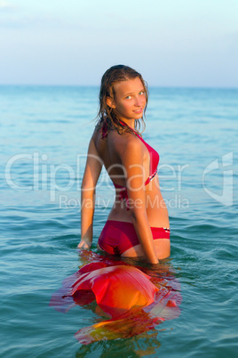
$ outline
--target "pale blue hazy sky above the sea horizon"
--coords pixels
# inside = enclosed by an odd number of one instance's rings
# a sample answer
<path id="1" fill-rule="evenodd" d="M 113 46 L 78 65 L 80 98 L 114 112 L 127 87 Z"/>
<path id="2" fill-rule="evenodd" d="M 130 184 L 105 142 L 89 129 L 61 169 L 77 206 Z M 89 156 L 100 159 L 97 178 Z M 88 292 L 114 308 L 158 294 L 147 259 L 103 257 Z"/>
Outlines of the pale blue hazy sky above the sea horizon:
<path id="1" fill-rule="evenodd" d="M 238 0 L 0 0 L 0 84 L 238 87 Z"/>

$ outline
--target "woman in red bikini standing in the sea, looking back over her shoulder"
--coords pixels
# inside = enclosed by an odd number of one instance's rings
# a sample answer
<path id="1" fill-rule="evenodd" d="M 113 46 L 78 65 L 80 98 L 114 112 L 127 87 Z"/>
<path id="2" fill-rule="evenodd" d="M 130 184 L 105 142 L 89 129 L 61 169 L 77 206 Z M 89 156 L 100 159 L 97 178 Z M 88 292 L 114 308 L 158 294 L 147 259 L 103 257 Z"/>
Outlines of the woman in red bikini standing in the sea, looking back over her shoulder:
<path id="1" fill-rule="evenodd" d="M 159 155 L 139 134 L 147 98 L 145 81 L 130 67 L 113 66 L 101 79 L 99 120 L 83 175 L 78 248 L 91 248 L 95 187 L 104 165 L 116 195 L 98 248 L 157 264 L 171 253 L 170 224 L 157 175 Z"/>

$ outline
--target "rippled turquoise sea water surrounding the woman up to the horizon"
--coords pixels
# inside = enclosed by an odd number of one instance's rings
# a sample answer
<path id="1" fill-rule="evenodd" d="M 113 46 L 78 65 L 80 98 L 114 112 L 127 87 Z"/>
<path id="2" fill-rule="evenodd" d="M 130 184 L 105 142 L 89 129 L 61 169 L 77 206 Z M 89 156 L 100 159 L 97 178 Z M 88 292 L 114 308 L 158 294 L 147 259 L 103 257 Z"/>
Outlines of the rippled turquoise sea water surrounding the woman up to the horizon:
<path id="1" fill-rule="evenodd" d="M 238 90 L 151 88 L 147 140 L 160 153 L 181 313 L 134 338 L 81 346 L 87 307 L 49 307 L 82 264 L 80 182 L 98 88 L 0 86 L 1 339 L 4 357 L 234 357 Z M 101 175 L 92 250 L 114 191 Z"/>

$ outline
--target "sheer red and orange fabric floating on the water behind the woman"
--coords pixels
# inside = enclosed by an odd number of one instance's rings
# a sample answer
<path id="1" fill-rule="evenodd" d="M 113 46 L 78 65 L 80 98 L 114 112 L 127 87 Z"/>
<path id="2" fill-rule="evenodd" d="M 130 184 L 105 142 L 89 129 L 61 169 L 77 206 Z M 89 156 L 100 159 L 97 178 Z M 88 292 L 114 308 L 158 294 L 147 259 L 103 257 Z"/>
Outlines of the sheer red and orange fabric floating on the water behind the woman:
<path id="1" fill-rule="evenodd" d="M 180 285 L 170 264 L 135 267 L 130 260 L 91 251 L 80 251 L 80 257 L 82 267 L 62 282 L 50 305 L 62 313 L 86 305 L 104 316 L 75 333 L 81 344 L 131 338 L 178 317 Z"/>

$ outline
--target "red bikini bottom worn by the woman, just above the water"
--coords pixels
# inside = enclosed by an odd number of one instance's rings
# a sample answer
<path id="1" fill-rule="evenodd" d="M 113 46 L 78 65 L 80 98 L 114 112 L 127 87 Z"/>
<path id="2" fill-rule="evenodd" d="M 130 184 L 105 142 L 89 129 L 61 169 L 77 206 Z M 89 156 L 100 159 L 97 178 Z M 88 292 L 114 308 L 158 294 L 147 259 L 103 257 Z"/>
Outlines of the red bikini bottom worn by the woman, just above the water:
<path id="1" fill-rule="evenodd" d="M 170 229 L 151 227 L 153 239 L 169 239 Z M 110 255 L 122 255 L 129 248 L 139 245 L 139 239 L 132 223 L 107 220 L 99 236 L 99 247 Z"/>

